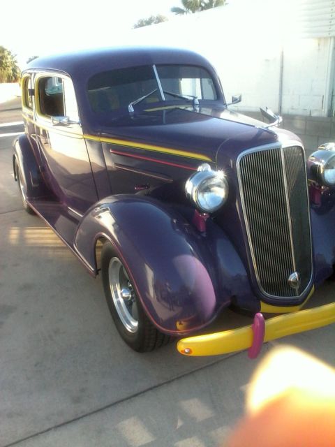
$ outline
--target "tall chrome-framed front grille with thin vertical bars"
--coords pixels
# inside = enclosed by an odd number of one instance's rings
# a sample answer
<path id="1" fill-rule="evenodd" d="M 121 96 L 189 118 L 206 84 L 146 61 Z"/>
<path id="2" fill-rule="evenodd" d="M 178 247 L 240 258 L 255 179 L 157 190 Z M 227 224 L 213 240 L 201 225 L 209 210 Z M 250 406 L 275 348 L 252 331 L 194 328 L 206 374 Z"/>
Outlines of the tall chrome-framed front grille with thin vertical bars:
<path id="1" fill-rule="evenodd" d="M 303 149 L 251 150 L 238 163 L 239 188 L 260 289 L 293 298 L 311 280 L 311 231 Z M 299 288 L 288 282 L 299 272 Z"/>

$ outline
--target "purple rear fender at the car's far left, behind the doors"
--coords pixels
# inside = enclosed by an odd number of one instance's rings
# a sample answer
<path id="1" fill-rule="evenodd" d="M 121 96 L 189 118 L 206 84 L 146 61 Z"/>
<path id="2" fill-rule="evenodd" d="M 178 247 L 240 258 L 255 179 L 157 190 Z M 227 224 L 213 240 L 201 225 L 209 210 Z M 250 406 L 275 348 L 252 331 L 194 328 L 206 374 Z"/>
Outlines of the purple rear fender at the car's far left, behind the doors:
<path id="1" fill-rule="evenodd" d="M 36 161 L 34 141 L 26 134 L 20 135 L 13 142 L 13 171 L 15 180 L 17 173 L 15 161 L 19 165 L 22 174 L 22 182 L 26 189 L 27 199 L 41 198 L 47 196 L 47 187 L 40 175 L 40 168 Z"/>

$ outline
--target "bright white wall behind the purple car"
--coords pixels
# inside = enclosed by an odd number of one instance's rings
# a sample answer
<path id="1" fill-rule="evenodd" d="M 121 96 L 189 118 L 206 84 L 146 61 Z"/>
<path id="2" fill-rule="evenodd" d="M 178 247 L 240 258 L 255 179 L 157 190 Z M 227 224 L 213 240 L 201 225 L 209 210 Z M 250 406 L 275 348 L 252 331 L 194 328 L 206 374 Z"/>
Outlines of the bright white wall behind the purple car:
<path id="1" fill-rule="evenodd" d="M 305 22 L 313 18 L 313 8 L 331 0 L 228 2 L 134 29 L 115 43 L 188 47 L 204 54 L 216 66 L 226 98 L 242 94 L 239 110 L 267 105 L 283 114 L 328 116 L 332 38 L 301 36 L 308 36 Z"/>

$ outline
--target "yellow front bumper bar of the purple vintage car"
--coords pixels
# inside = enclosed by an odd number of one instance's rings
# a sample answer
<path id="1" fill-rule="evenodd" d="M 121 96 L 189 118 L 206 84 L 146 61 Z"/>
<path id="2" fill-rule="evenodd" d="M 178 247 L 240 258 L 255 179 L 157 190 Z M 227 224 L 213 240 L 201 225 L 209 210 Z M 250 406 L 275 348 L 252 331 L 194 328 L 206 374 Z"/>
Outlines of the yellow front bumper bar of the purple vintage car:
<path id="1" fill-rule="evenodd" d="M 292 314 L 275 316 L 265 321 L 264 342 L 321 328 L 332 323 L 335 323 L 335 302 Z M 214 334 L 183 338 L 179 340 L 177 349 L 186 356 L 218 356 L 251 348 L 252 344 L 253 328 L 249 325 Z"/>

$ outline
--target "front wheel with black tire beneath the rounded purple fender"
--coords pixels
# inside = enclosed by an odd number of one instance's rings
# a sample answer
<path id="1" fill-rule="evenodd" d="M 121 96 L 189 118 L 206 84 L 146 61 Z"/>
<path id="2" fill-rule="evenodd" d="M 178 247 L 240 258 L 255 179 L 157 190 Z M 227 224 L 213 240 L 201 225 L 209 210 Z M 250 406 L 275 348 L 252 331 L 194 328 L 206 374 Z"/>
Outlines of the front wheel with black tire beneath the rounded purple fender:
<path id="1" fill-rule="evenodd" d="M 107 305 L 124 342 L 137 352 L 154 351 L 167 344 L 170 337 L 159 332 L 145 314 L 128 271 L 110 242 L 105 242 L 101 252 L 101 274 Z"/>

